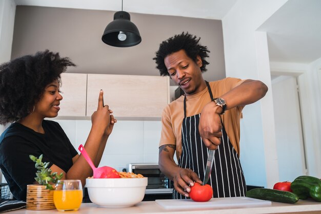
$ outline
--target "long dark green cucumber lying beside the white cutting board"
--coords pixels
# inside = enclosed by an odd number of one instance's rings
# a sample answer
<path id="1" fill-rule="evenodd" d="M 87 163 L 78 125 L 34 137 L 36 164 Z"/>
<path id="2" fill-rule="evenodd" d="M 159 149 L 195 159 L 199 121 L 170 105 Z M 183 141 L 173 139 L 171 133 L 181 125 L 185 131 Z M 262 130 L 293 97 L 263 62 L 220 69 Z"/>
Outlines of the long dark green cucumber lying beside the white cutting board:
<path id="1" fill-rule="evenodd" d="M 267 188 L 255 188 L 246 192 L 246 196 L 249 198 L 283 202 L 294 204 L 299 199 L 297 195 L 289 191 L 282 191 L 276 189 Z"/>

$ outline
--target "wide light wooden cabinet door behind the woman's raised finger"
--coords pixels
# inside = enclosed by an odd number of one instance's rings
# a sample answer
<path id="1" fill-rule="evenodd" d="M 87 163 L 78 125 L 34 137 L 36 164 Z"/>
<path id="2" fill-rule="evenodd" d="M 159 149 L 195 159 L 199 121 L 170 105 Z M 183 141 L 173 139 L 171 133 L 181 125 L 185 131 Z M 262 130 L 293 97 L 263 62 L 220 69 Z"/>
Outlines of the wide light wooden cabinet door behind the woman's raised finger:
<path id="1" fill-rule="evenodd" d="M 87 116 L 97 110 L 101 89 L 115 118 L 160 118 L 169 103 L 169 77 L 88 74 Z"/>

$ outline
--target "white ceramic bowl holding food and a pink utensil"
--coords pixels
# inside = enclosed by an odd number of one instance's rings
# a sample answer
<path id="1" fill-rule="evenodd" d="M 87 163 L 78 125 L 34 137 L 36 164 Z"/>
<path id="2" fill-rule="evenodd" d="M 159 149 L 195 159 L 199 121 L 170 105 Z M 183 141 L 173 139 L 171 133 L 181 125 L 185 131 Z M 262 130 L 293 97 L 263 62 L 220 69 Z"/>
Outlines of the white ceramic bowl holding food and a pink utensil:
<path id="1" fill-rule="evenodd" d="M 141 202 L 147 178 L 87 178 L 92 203 L 102 207 L 129 207 Z"/>

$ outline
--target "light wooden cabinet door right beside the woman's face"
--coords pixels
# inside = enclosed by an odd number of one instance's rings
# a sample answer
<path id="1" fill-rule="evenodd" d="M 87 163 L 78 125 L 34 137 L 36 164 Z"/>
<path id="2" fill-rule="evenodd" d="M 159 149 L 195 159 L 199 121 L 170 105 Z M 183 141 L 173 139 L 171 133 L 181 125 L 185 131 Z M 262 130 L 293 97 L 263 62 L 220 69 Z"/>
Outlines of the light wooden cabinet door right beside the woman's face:
<path id="1" fill-rule="evenodd" d="M 86 116 L 87 74 L 62 73 L 58 116 Z"/>

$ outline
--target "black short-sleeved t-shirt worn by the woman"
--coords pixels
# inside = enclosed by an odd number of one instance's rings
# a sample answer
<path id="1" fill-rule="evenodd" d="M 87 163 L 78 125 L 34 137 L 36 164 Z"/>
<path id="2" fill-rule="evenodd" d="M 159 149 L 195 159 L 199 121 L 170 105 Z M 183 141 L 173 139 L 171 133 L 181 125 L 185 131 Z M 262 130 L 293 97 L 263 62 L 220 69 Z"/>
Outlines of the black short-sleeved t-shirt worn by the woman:
<path id="1" fill-rule="evenodd" d="M 55 164 L 67 173 L 78 154 L 57 122 L 43 120 L 42 125 L 45 134 L 15 122 L 0 137 L 0 168 L 17 200 L 26 201 L 27 185 L 35 182 L 37 169 L 29 155 L 43 154 L 48 168 Z"/>

